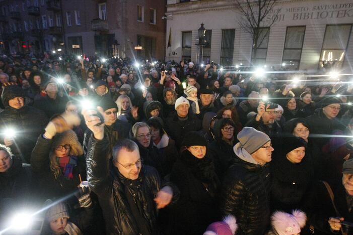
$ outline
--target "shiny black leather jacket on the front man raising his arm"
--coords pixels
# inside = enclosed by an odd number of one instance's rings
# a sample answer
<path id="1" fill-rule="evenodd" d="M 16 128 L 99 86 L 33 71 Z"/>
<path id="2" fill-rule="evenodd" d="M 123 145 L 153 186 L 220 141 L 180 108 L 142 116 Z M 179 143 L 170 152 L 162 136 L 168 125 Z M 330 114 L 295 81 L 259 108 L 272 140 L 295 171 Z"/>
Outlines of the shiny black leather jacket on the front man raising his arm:
<path id="1" fill-rule="evenodd" d="M 98 195 L 106 224 L 106 234 L 138 234 L 139 228 L 128 196 L 133 196 L 142 217 L 147 221 L 150 234 L 158 234 L 157 209 L 153 199 L 165 185 L 173 188 L 173 201 L 178 198 L 178 190 L 173 184 L 162 184 L 157 170 L 143 165 L 138 179 L 123 177 L 113 166 L 108 156 L 109 144 L 104 138 L 99 141 L 92 136 L 87 152 L 87 178 L 91 189 Z M 128 194 L 129 193 L 129 194 Z"/>

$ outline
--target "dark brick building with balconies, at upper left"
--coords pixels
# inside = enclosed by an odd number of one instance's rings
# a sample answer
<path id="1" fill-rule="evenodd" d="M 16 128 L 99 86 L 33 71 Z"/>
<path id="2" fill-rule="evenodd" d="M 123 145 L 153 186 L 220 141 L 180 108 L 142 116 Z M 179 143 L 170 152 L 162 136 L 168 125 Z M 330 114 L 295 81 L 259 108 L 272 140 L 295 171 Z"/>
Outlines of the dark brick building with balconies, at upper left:
<path id="1" fill-rule="evenodd" d="M 165 0 L 0 0 L 0 6 L 0 50 L 7 53 L 165 55 Z"/>

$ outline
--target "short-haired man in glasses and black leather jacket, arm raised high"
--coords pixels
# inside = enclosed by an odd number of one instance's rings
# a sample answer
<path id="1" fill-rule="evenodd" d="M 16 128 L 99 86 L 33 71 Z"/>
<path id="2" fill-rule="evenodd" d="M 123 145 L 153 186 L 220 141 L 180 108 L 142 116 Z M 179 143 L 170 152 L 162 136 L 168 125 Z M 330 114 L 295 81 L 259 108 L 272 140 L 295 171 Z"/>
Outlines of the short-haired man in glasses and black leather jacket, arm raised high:
<path id="1" fill-rule="evenodd" d="M 103 110 L 99 108 L 100 112 Z M 89 140 L 87 179 L 98 195 L 107 234 L 159 234 L 158 209 L 178 198 L 172 183 L 163 183 L 157 170 L 142 164 L 138 147 L 131 140 L 120 140 L 109 154 L 104 124 L 83 110 L 86 124 L 93 135 Z M 108 155 L 109 156 L 109 155 Z"/>

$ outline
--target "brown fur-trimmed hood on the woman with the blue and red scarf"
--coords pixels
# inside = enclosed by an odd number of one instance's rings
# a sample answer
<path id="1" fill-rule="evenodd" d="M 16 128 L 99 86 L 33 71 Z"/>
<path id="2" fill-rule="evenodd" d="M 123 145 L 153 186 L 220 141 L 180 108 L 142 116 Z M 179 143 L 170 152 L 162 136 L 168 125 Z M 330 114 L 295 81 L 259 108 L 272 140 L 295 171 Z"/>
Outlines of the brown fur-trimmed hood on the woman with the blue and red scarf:
<path id="1" fill-rule="evenodd" d="M 58 145 L 67 144 L 69 144 L 71 147 L 69 153 L 70 156 L 81 156 L 84 154 L 82 145 L 80 144 L 79 139 L 77 138 L 77 135 L 73 130 L 67 130 L 65 132 L 56 134 L 53 138 L 53 148 L 51 151 L 54 152 L 54 148 Z"/>

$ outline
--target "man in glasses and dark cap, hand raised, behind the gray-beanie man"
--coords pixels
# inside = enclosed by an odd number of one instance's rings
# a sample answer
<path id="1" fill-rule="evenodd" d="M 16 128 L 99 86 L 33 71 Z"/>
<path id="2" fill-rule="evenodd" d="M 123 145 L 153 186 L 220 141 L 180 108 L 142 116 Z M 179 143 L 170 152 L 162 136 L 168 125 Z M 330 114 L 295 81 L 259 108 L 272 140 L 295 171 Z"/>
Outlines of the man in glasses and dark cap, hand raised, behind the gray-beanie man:
<path id="1" fill-rule="evenodd" d="M 265 105 L 267 106 L 265 107 Z M 282 128 L 275 120 L 274 111 L 277 107 L 276 103 L 260 101 L 257 106 L 257 114 L 245 126 L 255 128 L 273 140 L 282 132 Z"/>

